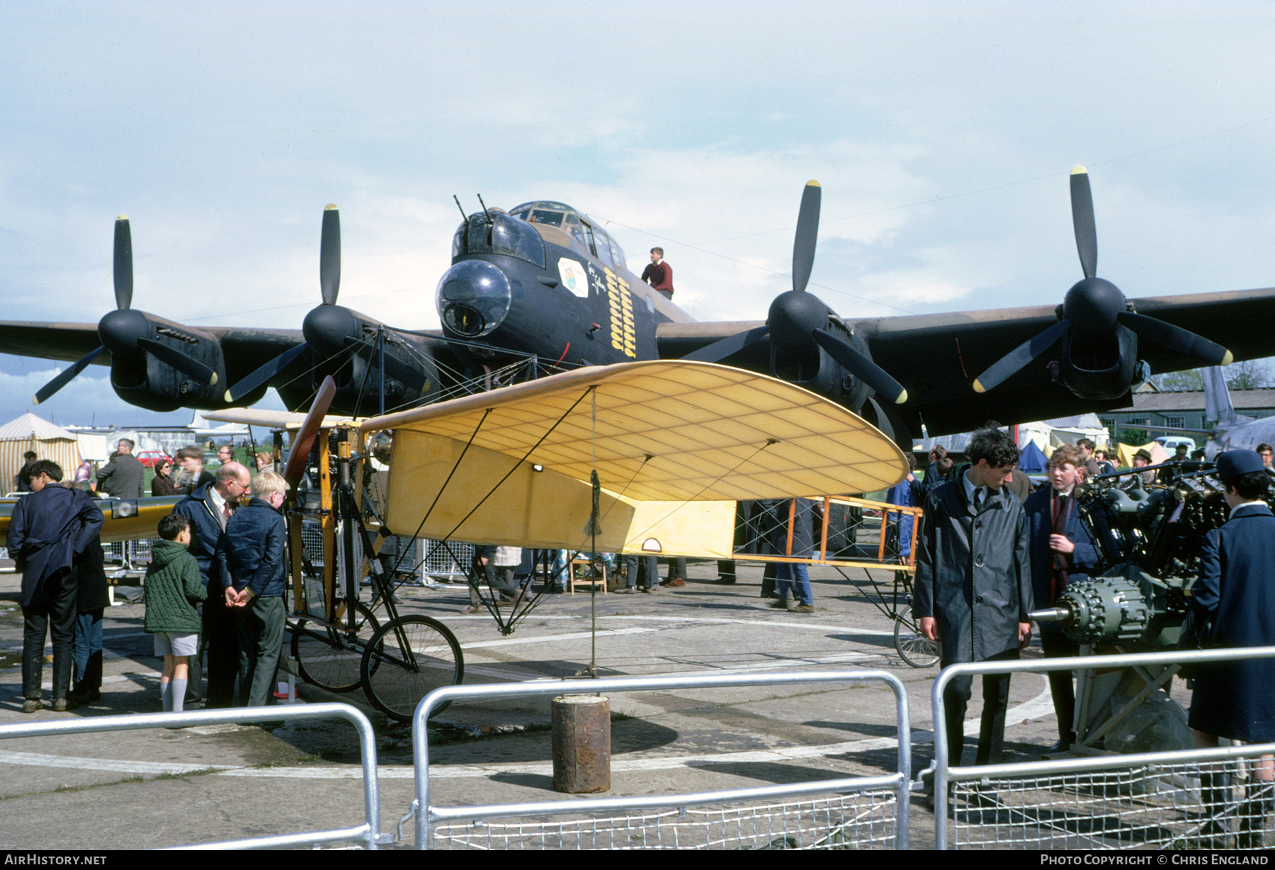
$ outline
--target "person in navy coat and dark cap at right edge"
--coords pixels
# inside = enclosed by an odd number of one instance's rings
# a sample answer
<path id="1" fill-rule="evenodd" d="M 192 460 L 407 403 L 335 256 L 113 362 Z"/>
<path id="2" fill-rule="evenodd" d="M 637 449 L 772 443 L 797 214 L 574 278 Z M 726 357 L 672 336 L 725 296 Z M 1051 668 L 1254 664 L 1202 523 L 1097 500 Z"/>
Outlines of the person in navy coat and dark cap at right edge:
<path id="1" fill-rule="evenodd" d="M 1200 578 L 1191 587 L 1191 610 L 1197 639 L 1206 647 L 1275 645 L 1275 515 L 1264 496 L 1270 477 L 1255 450 L 1218 454 L 1218 477 L 1225 487 L 1230 518 L 1205 537 L 1200 550 Z M 1275 660 L 1250 658 L 1201 665 L 1187 719 L 1195 744 L 1218 745 L 1218 737 L 1251 744 L 1275 741 Z M 1200 796 L 1205 814 L 1233 813 L 1228 807 L 1227 774 L 1201 769 Z M 1265 818 L 1275 799 L 1271 756 L 1253 770 L 1239 806 L 1239 848 L 1262 848 Z M 1221 820 L 1205 834 L 1225 834 Z"/>

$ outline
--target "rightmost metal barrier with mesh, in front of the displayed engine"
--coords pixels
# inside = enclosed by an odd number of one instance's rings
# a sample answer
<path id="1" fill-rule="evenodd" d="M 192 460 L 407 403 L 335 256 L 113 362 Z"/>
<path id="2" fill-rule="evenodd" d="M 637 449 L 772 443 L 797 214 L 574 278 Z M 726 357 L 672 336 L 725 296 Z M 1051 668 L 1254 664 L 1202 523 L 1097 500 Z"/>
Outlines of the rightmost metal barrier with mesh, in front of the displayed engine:
<path id="1" fill-rule="evenodd" d="M 950 767 L 943 690 L 975 674 L 1111 670 L 1275 658 L 1275 647 L 969 662 L 935 680 L 936 848 L 1264 848 L 1275 787 L 1256 778 L 1275 744 Z M 958 759 L 959 760 L 959 759 Z"/>

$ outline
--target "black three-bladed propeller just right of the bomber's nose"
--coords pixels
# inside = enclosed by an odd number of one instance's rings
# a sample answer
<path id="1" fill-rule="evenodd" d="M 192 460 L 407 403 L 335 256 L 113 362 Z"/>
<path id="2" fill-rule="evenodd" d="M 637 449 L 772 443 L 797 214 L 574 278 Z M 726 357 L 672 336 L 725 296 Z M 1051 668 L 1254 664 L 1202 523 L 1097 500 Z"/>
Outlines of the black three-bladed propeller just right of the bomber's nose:
<path id="1" fill-rule="evenodd" d="M 825 329 L 829 323 L 827 306 L 813 293 L 806 292 L 806 284 L 810 282 L 810 273 L 815 265 L 820 190 L 817 181 L 808 181 L 802 191 L 797 233 L 793 240 L 793 288 L 784 291 L 770 304 L 766 325 L 728 335 L 687 353 L 683 358 L 718 362 L 769 334 L 771 346 L 780 351 L 808 351 L 812 344 L 817 344 L 827 351 L 827 355 L 836 360 L 843 369 L 871 387 L 878 395 L 896 403 L 907 402 L 908 390 L 899 381 L 864 353 Z"/>

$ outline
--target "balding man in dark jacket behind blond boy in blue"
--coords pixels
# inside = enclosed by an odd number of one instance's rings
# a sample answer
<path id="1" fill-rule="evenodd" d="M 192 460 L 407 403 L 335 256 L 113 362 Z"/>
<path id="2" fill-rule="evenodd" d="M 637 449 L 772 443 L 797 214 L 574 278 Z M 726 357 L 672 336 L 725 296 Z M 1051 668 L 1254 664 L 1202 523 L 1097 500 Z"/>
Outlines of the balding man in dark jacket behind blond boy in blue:
<path id="1" fill-rule="evenodd" d="M 218 594 L 219 578 L 209 586 L 215 570 L 217 547 L 226 533 L 226 523 L 235 514 L 240 499 L 249 487 L 247 468 L 237 462 L 227 462 L 217 469 L 212 483 L 204 483 L 173 508 L 175 514 L 190 519 L 190 551 L 199 561 L 199 577 L 209 591 L 203 607 L 203 633 L 199 656 L 190 662 L 186 709 L 203 694 L 203 663 L 208 657 L 208 709 L 235 705 L 235 677 L 238 674 L 238 630 L 231 607 L 237 602 L 235 589 Z M 205 653 L 207 651 L 207 653 Z"/>

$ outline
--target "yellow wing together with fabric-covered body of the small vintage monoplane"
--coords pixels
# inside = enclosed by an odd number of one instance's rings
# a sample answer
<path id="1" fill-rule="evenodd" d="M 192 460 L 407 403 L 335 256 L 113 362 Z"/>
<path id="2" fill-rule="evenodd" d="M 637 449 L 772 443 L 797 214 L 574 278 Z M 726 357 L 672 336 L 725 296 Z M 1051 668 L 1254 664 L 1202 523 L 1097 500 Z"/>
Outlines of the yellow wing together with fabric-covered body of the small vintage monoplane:
<path id="1" fill-rule="evenodd" d="M 843 406 L 681 360 L 590 366 L 360 427 L 393 430 L 388 528 L 487 543 L 729 557 L 736 499 L 872 491 L 907 473 Z"/>

